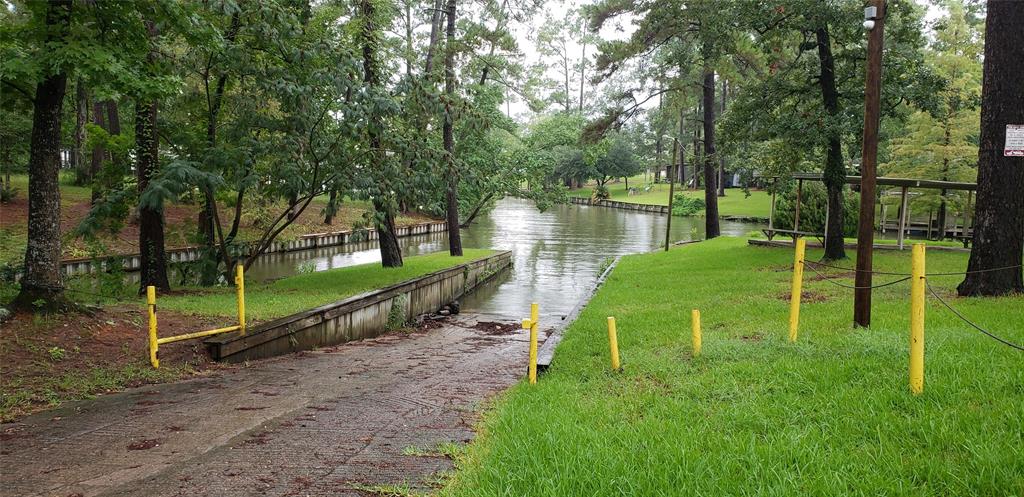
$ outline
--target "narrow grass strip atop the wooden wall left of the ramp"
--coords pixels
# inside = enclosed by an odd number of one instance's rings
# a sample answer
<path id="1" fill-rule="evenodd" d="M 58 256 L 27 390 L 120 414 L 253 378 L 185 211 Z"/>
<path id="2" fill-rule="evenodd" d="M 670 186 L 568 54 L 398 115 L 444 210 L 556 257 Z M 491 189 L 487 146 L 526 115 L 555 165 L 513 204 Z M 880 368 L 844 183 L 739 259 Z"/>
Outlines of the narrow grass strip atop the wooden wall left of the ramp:
<path id="1" fill-rule="evenodd" d="M 246 318 L 250 322 L 281 318 L 493 253 L 493 250 L 466 249 L 462 257 L 452 257 L 447 252 L 436 252 L 406 257 L 401 267 L 385 268 L 380 262 L 371 262 L 293 276 L 268 284 L 250 284 L 246 286 Z M 182 295 L 158 297 L 157 305 L 203 316 L 233 318 L 237 314 L 233 288 L 194 290 Z"/>

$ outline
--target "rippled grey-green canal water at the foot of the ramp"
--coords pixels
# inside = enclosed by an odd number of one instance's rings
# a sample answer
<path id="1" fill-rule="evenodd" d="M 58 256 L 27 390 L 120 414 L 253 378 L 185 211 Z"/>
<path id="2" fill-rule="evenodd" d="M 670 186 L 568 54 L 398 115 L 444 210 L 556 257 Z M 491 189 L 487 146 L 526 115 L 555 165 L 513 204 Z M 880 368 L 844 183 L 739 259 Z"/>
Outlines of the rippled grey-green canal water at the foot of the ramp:
<path id="1" fill-rule="evenodd" d="M 585 205 L 556 205 L 540 212 L 530 201 L 506 198 L 463 230 L 463 246 L 511 250 L 514 265 L 466 296 L 463 310 L 518 320 L 528 314 L 530 302 L 539 302 L 542 316 L 561 319 L 590 291 L 607 261 L 663 247 L 666 220 L 665 214 Z M 702 217 L 673 217 L 672 241 L 702 240 L 703 222 Z M 722 235 L 744 236 L 763 226 L 723 220 L 721 227 Z M 444 233 L 400 242 L 407 256 L 447 250 Z M 303 266 L 325 271 L 378 260 L 376 242 L 366 242 L 267 254 L 247 276 L 266 280 Z"/>

